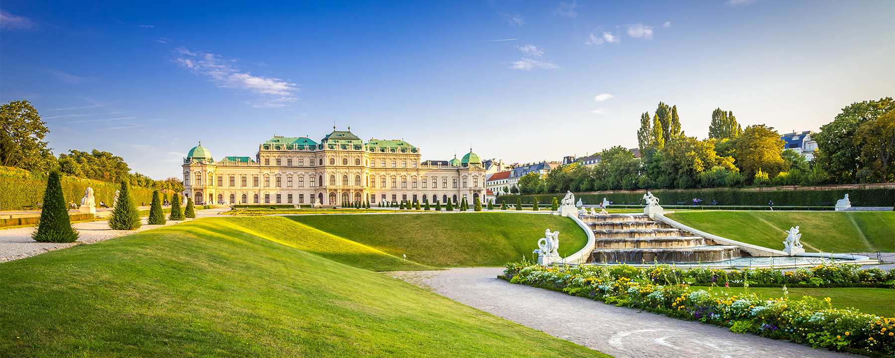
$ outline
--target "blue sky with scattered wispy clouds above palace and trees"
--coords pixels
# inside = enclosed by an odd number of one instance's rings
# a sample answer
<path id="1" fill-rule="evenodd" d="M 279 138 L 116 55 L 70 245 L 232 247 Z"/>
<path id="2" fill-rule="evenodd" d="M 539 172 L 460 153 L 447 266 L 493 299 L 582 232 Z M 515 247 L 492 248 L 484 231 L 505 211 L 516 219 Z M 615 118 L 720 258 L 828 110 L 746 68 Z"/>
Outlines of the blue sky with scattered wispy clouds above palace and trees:
<path id="1" fill-rule="evenodd" d="M 680 4 L 686 3 L 686 4 Z M 636 147 L 640 114 L 712 109 L 780 132 L 895 95 L 895 3 L 44 2 L 0 5 L 0 100 L 56 154 L 102 149 L 155 178 L 201 141 L 254 156 L 335 124 L 424 159 L 558 160 Z"/>

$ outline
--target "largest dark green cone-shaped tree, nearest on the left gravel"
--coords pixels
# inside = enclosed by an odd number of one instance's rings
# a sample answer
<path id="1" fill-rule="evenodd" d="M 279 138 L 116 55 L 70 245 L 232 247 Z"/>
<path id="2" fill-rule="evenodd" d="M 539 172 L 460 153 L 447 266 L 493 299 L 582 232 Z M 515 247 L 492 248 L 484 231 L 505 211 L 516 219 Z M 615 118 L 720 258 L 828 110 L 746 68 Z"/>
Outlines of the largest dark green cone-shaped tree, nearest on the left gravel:
<path id="1" fill-rule="evenodd" d="M 74 243 L 78 240 L 78 232 L 74 231 L 68 217 L 59 177 L 59 168 L 50 170 L 38 230 L 31 233 L 31 238 L 38 243 Z"/>

